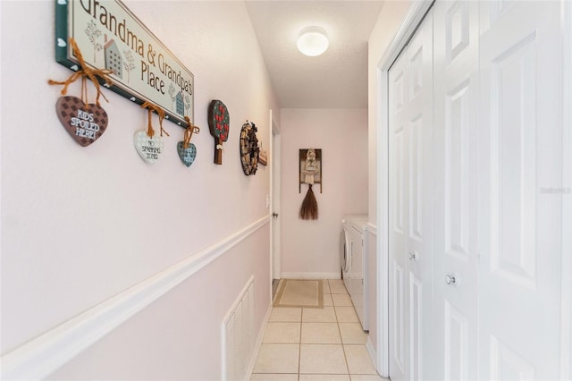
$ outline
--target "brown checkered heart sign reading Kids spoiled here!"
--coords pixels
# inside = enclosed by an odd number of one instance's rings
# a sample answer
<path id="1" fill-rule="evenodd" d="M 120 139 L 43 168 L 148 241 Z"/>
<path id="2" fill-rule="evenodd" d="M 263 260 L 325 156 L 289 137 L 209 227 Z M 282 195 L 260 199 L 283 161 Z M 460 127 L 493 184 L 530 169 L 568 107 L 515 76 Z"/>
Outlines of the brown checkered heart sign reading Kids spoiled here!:
<path id="1" fill-rule="evenodd" d="M 79 97 L 60 97 L 55 112 L 65 131 L 81 147 L 98 140 L 107 128 L 107 113 L 101 106 L 85 103 Z"/>

